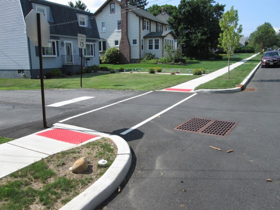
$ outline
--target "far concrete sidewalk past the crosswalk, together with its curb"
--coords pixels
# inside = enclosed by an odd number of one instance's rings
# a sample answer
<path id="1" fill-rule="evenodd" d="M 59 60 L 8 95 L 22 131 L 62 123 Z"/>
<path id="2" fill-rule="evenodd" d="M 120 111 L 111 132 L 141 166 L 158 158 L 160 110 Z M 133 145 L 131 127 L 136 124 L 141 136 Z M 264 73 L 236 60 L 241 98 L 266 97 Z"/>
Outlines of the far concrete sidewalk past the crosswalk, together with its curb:
<path id="1" fill-rule="evenodd" d="M 254 58 L 256 55 L 258 54 L 254 54 L 252 55 L 251 57 L 249 58 L 246 58 L 246 59 L 243 59 L 241 61 L 238 61 L 236 63 L 233 63 L 230 65 L 230 71 L 240 65 L 242 65 L 243 63 L 245 63 L 246 61 L 250 60 L 251 58 Z M 245 80 L 242 82 L 244 84 L 240 84 L 241 86 L 245 86 L 245 83 L 249 82 L 250 81 L 250 76 L 253 76 L 254 75 L 254 72 L 258 69 L 259 67 L 259 64 L 257 65 L 256 68 L 254 68 L 254 70 L 249 74 L 249 77 L 246 77 Z M 225 73 L 228 72 L 228 66 L 224 67 L 224 68 L 221 68 L 215 72 L 212 72 L 210 74 L 205 74 L 203 75 L 202 77 L 198 77 L 196 79 L 193 79 L 193 80 L 190 80 L 188 82 L 184 82 L 184 83 L 181 83 L 179 85 L 176 85 L 176 86 L 173 86 L 173 87 L 170 87 L 170 88 L 166 88 L 166 89 L 163 89 L 161 91 L 175 91 L 175 92 L 196 92 L 196 93 L 229 93 L 229 92 L 238 92 L 238 91 L 241 91 L 241 87 L 236 87 L 236 88 L 231 88 L 231 89 L 222 89 L 222 90 L 214 90 L 214 89 L 209 89 L 209 90 L 196 90 L 194 91 L 194 89 L 205 83 L 205 82 L 208 82 L 210 80 L 213 80 Z M 246 84 L 247 84 L 246 83 Z"/>

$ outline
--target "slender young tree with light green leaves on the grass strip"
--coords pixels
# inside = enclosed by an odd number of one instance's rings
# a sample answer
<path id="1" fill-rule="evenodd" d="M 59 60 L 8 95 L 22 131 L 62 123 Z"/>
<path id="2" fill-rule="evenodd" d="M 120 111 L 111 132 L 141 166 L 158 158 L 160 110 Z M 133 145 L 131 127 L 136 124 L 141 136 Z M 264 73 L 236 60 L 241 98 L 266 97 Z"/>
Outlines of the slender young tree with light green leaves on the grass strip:
<path id="1" fill-rule="evenodd" d="M 234 10 L 232 6 L 229 11 L 226 11 L 222 15 L 219 23 L 222 29 L 222 33 L 220 33 L 220 38 L 218 39 L 220 42 L 219 46 L 226 51 L 228 58 L 227 79 L 229 79 L 230 56 L 233 55 L 234 50 L 239 46 L 240 33 L 242 32 L 242 25 L 239 25 L 237 28 L 238 20 L 238 11 Z"/>

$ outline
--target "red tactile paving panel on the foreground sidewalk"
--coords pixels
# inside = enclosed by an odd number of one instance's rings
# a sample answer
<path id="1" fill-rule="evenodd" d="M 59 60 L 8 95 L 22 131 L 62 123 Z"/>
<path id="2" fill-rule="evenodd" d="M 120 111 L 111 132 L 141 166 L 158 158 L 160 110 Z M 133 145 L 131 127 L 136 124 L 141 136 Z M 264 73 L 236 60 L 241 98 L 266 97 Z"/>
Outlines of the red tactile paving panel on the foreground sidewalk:
<path id="1" fill-rule="evenodd" d="M 85 142 L 91 138 L 95 138 L 97 136 L 87 134 L 87 133 L 80 133 L 76 131 L 71 131 L 67 129 L 55 128 L 49 131 L 45 131 L 42 133 L 37 133 L 38 136 L 43 136 L 47 138 L 52 138 L 62 142 L 68 142 L 71 144 L 80 144 Z"/>

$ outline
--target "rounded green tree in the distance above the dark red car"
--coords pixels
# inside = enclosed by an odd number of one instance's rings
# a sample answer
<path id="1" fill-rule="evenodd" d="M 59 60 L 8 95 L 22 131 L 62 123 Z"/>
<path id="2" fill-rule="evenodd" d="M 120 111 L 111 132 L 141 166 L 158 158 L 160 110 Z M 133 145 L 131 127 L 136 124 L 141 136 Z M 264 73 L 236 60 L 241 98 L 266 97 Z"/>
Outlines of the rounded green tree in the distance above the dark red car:
<path id="1" fill-rule="evenodd" d="M 249 45 L 253 46 L 256 52 L 261 52 L 263 48 L 277 44 L 276 31 L 268 22 L 258 26 L 257 30 L 253 31 L 249 37 Z"/>

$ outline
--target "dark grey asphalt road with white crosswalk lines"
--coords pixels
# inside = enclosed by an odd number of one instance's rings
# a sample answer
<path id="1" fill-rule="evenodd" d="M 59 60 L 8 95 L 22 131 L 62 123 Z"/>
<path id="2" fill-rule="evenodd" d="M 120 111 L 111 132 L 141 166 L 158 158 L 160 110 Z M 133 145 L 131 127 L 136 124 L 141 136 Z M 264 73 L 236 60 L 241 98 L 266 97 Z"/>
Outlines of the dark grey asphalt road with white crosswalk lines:
<path id="1" fill-rule="evenodd" d="M 255 91 L 229 94 L 50 91 L 54 95 L 49 98 L 51 100 L 47 99 L 49 103 L 76 96 L 95 98 L 60 108 L 48 107 L 47 122 L 51 126 L 63 121 L 112 133 L 128 142 L 133 162 L 121 185 L 122 191 L 116 191 L 100 208 L 279 209 L 279 82 L 280 68 L 259 68 L 247 85 L 256 88 Z M 27 95 L 30 93 L 29 98 L 35 94 L 33 91 L 20 91 L 21 100 L 24 100 L 25 92 Z M 34 121 L 32 118 L 34 113 L 40 115 L 37 93 L 36 100 L 26 99 L 30 101 L 18 103 L 18 106 L 31 107 L 26 113 L 30 122 L 23 124 L 24 120 L 20 120 L 21 123 L 12 128 L 5 127 L 6 121 L 3 122 L 2 116 L 10 118 L 10 121 L 12 117 L 9 116 L 16 116 L 11 114 L 13 110 L 8 112 L 5 105 L 12 109 L 18 101 L 3 102 L 2 96 L 9 98 L 8 93 L 14 95 L 14 91 L 0 91 L 0 108 L 6 113 L 1 111 L 1 123 L 4 125 L 0 124 L 3 128 L 0 136 L 21 137 L 43 129 L 40 119 Z M 122 101 L 133 96 L 138 97 Z M 96 111 L 65 120 L 89 110 Z M 238 124 L 226 137 L 173 129 L 192 117 Z M 18 119 L 21 115 L 13 118 L 14 121 Z M 133 126 L 135 129 L 121 134 Z M 234 152 L 227 153 L 227 150 Z"/>

